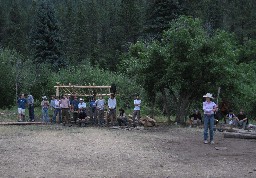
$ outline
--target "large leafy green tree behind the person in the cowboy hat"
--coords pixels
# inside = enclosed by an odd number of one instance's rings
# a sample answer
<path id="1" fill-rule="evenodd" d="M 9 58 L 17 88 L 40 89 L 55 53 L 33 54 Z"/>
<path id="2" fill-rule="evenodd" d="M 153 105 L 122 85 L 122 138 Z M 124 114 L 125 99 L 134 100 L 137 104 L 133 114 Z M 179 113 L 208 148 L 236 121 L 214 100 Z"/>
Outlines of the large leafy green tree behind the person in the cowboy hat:
<path id="1" fill-rule="evenodd" d="M 177 120 L 191 101 L 206 92 L 224 93 L 237 89 L 240 81 L 234 70 L 239 50 L 232 35 L 217 31 L 212 37 L 201 21 L 181 16 L 164 32 L 161 42 L 137 43 L 131 47 L 122 66 L 142 84 L 149 96 L 169 89 L 175 103 Z"/>

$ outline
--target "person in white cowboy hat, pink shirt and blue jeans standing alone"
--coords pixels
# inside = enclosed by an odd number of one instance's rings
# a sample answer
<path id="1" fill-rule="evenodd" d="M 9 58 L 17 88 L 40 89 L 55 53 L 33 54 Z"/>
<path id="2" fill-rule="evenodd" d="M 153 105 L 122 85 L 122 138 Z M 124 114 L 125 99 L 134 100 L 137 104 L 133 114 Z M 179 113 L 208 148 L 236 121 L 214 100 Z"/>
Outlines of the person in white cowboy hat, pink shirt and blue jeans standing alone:
<path id="1" fill-rule="evenodd" d="M 203 96 L 205 101 L 203 102 L 204 110 L 204 143 L 208 143 L 208 128 L 210 130 L 210 143 L 214 144 L 213 141 L 213 126 L 214 126 L 214 112 L 218 109 L 218 106 L 211 101 L 213 99 L 211 93 L 207 93 Z"/>

